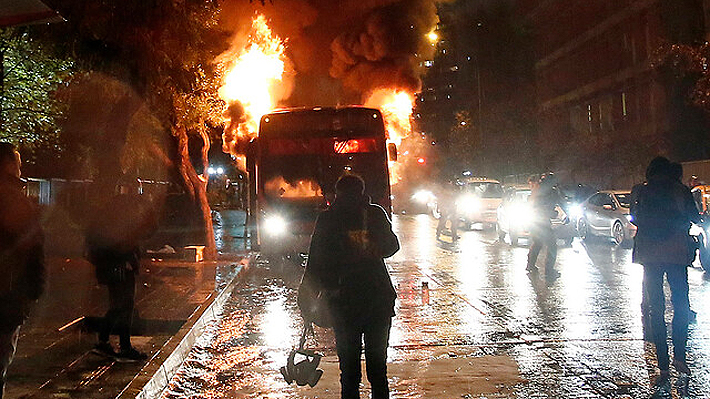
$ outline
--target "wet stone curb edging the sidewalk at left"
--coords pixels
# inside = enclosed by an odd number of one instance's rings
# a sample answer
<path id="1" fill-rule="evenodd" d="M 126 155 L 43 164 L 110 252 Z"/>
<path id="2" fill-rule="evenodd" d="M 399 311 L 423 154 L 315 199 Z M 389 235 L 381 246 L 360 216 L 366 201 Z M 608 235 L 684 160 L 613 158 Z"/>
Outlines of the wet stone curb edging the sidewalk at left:
<path id="1" fill-rule="evenodd" d="M 213 292 L 200 307 L 187 319 L 180 330 L 138 372 L 131 382 L 123 388 L 116 399 L 153 399 L 158 398 L 168 386 L 178 368 L 185 361 L 202 335 L 207 324 L 221 312 L 234 287 L 249 268 L 250 259 L 244 258 L 237 265 L 237 272 L 224 288 Z"/>

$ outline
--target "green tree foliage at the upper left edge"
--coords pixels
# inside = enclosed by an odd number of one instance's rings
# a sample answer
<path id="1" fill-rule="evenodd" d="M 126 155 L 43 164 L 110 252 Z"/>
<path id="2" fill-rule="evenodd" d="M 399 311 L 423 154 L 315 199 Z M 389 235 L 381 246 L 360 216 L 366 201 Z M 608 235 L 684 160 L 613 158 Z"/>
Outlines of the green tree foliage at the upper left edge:
<path id="1" fill-rule="evenodd" d="M 70 59 L 55 57 L 28 30 L 0 31 L 3 87 L 0 92 L 0 139 L 25 148 L 59 144 L 58 122 L 66 104 L 55 95 L 73 72 Z"/>

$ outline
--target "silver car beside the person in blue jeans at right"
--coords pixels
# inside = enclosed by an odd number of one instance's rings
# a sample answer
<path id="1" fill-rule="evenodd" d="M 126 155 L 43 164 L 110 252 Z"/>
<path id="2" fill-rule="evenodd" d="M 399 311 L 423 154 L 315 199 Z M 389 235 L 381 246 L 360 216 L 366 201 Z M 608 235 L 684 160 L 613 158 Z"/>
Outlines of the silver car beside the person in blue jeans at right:
<path id="1" fill-rule="evenodd" d="M 580 204 L 577 233 L 582 240 L 592 236 L 610 238 L 615 245 L 628 245 L 636 235 L 631 223 L 631 191 L 604 190 Z"/>

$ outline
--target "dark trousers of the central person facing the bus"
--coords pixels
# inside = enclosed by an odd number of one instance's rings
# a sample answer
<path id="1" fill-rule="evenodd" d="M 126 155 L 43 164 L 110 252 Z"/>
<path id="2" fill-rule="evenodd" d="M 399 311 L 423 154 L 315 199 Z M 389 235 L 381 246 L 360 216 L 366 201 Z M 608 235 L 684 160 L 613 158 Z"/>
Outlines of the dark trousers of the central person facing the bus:
<path id="1" fill-rule="evenodd" d="M 365 323 L 336 322 L 335 346 L 340 363 L 342 399 L 360 398 L 362 380 L 361 354 L 365 341 L 365 369 L 372 386 L 372 399 L 388 399 L 387 346 L 389 345 L 390 317 Z"/>

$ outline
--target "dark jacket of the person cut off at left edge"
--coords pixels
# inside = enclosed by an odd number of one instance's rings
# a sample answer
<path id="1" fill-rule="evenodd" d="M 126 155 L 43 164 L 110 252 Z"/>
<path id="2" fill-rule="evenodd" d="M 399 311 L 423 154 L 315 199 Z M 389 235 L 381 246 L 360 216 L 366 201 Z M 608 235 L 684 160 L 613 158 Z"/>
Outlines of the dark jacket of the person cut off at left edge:
<path id="1" fill-rule="evenodd" d="M 0 332 L 22 324 L 42 294 L 43 247 L 36 206 L 17 178 L 0 176 Z"/>

